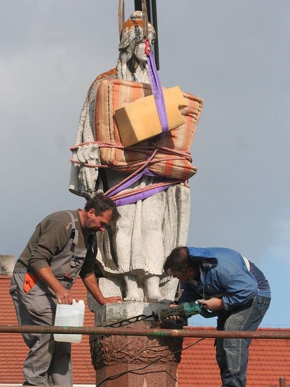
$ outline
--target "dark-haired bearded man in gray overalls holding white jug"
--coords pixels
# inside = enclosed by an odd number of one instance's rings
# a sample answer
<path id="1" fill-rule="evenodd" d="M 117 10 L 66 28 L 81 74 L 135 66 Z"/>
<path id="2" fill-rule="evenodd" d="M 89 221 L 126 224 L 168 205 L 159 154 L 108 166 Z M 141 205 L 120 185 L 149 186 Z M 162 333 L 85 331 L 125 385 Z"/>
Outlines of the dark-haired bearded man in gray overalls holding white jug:
<path id="1" fill-rule="evenodd" d="M 10 294 L 19 325 L 53 325 L 57 303 L 71 304 L 70 288 L 80 276 L 101 304 L 104 298 L 95 276 L 96 232 L 115 222 L 115 203 L 101 194 L 84 210 L 59 211 L 43 219 L 16 262 Z M 29 347 L 24 361 L 24 385 L 73 385 L 70 343 L 55 342 L 51 334 L 23 334 Z"/>

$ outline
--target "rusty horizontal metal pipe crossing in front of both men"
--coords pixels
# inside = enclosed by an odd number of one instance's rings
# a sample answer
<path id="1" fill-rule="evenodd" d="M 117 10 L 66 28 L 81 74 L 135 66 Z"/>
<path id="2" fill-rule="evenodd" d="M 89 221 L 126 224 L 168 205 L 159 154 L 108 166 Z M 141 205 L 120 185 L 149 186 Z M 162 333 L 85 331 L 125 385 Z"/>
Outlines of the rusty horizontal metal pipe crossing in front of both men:
<path id="1" fill-rule="evenodd" d="M 167 336 L 167 337 L 206 337 L 236 339 L 290 339 L 290 331 L 215 331 L 198 329 L 137 329 L 107 327 L 46 327 L 34 325 L 1 325 L 0 333 L 61 333 L 82 335 L 116 336 Z"/>

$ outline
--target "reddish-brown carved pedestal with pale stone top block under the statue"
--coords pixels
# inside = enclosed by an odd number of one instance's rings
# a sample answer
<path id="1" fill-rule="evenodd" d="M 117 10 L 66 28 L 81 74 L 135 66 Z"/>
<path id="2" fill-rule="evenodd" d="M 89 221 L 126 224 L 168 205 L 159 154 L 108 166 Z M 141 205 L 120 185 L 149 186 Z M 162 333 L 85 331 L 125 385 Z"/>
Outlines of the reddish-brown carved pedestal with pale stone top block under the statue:
<path id="1" fill-rule="evenodd" d="M 105 326 L 152 311 L 158 313 L 168 306 L 169 303 L 122 302 L 104 306 L 95 303 L 95 325 Z M 123 328 L 180 327 L 175 322 L 139 321 Z M 176 387 L 178 384 L 177 365 L 181 353 L 174 352 L 181 350 L 182 338 L 92 335 L 90 346 L 96 386 L 101 383 L 100 387 Z M 103 381 L 106 378 L 109 379 Z"/>

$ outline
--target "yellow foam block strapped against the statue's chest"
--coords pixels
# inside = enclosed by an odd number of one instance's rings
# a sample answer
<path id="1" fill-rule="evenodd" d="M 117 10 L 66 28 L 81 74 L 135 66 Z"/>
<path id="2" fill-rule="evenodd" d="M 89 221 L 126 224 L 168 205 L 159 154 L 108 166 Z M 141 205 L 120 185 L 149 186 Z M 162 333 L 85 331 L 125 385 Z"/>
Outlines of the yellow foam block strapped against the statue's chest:
<path id="1" fill-rule="evenodd" d="M 182 125 L 179 109 L 187 106 L 179 86 L 163 90 L 169 130 Z M 118 130 L 125 147 L 148 140 L 162 133 L 154 96 L 139 98 L 115 110 Z"/>

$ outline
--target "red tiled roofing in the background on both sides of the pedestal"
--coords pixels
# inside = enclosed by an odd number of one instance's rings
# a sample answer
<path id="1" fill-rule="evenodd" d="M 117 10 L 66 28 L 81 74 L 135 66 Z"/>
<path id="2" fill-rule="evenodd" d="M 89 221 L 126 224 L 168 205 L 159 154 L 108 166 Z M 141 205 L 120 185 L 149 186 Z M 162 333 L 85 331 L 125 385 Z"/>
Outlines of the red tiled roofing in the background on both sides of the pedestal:
<path id="1" fill-rule="evenodd" d="M 0 325 L 17 324 L 13 302 L 9 296 L 11 277 L 0 276 Z M 84 299 L 86 289 L 78 280 L 72 289 L 73 297 Z M 86 306 L 85 326 L 94 326 L 94 314 Z M 201 329 L 194 327 L 190 329 Z M 210 328 L 202 328 L 210 329 Z M 265 330 L 265 329 L 263 329 Z M 278 329 L 270 329 L 279 331 Z M 285 331 L 285 330 L 283 330 Z M 286 330 L 290 331 L 290 330 Z M 198 339 L 186 338 L 183 347 Z M 215 362 L 214 339 L 205 339 L 182 353 L 178 366 L 179 387 L 218 387 L 221 385 L 219 369 Z M 0 383 L 22 383 L 22 365 L 27 353 L 20 334 L 0 334 Z M 74 383 L 95 384 L 95 371 L 91 363 L 88 336 L 81 344 L 73 344 Z M 278 385 L 280 376 L 290 384 L 290 340 L 254 339 L 250 346 L 248 387 Z"/>

